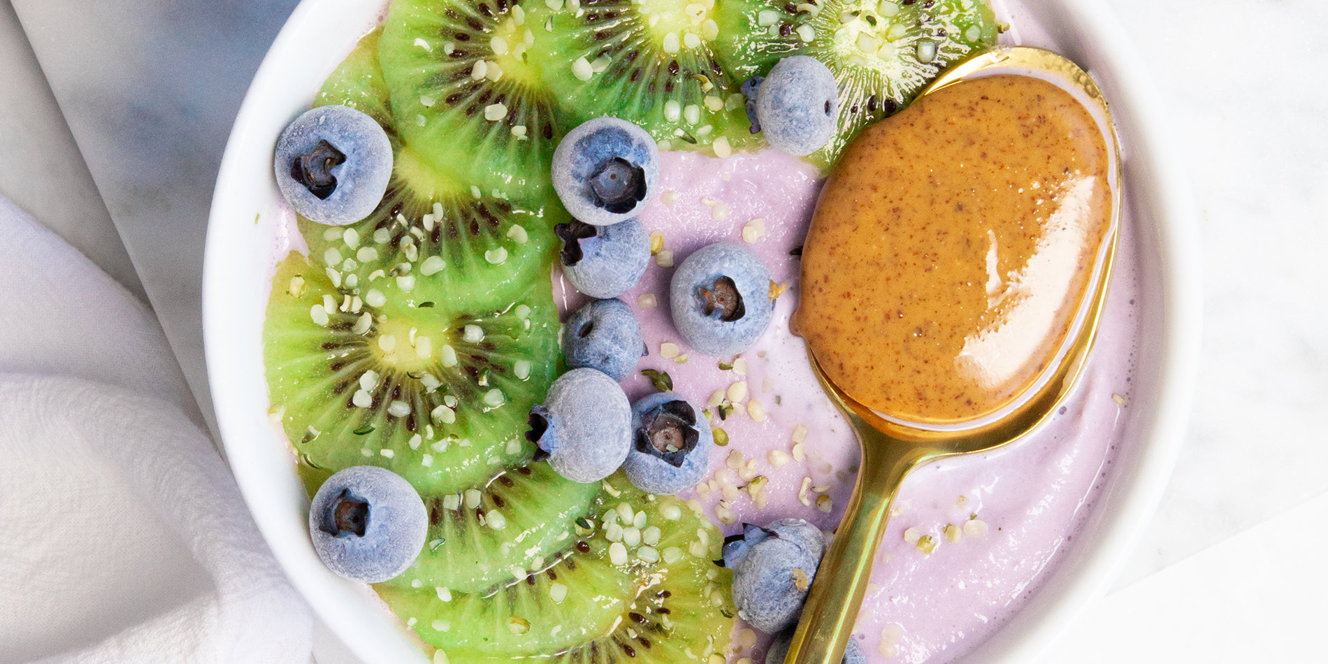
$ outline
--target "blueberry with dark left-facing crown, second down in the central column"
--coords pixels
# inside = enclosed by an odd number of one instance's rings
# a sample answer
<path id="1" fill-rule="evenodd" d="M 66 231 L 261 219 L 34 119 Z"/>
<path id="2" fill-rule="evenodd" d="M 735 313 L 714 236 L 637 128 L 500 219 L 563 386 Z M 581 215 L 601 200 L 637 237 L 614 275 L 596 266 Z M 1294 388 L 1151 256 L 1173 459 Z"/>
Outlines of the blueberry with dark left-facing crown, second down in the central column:
<path id="1" fill-rule="evenodd" d="M 629 291 L 651 262 L 651 236 L 636 219 L 591 226 L 572 219 L 554 226 L 563 240 L 563 274 L 591 297 L 618 297 Z"/>

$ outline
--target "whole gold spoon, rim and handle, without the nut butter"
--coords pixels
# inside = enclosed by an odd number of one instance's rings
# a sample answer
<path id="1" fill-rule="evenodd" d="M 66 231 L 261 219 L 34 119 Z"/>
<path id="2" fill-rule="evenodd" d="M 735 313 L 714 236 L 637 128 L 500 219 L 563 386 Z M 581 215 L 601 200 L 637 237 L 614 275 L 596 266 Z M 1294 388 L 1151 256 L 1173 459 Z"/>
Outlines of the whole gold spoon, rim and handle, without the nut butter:
<path id="1" fill-rule="evenodd" d="M 1033 72 L 1072 93 L 1080 92 L 1081 102 L 1096 110 L 1108 134 L 1109 169 L 1114 161 L 1110 230 L 1098 251 L 1094 283 L 1080 303 L 1078 328 L 1070 329 L 1058 361 L 1049 363 L 1021 401 L 999 420 L 985 420 L 964 428 L 924 428 L 887 420 L 854 401 L 825 374 L 814 356 L 811 369 L 830 401 L 857 433 L 862 446 L 862 463 L 853 498 L 835 530 L 817 579 L 807 595 L 802 619 L 785 657 L 786 664 L 839 664 L 853 633 L 858 611 L 871 576 L 872 560 L 890 521 L 894 501 L 910 470 L 944 457 L 987 452 L 1027 434 L 1041 424 L 1065 398 L 1088 360 L 1097 333 L 1116 256 L 1117 227 L 1121 210 L 1121 159 L 1116 127 L 1097 84 L 1078 65 L 1050 50 L 1029 46 L 996 46 L 954 66 L 934 81 L 922 94 L 934 93 L 973 74 Z"/>

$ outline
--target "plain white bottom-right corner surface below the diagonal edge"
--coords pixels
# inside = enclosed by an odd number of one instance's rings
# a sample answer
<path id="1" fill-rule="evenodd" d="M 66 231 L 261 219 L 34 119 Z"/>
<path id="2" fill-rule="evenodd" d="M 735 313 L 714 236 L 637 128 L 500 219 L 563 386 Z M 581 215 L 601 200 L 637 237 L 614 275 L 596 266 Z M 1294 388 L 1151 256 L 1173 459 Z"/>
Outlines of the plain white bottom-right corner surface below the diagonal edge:
<path id="1" fill-rule="evenodd" d="M 1046 664 L 1323 663 L 1328 494 L 1108 595 Z"/>

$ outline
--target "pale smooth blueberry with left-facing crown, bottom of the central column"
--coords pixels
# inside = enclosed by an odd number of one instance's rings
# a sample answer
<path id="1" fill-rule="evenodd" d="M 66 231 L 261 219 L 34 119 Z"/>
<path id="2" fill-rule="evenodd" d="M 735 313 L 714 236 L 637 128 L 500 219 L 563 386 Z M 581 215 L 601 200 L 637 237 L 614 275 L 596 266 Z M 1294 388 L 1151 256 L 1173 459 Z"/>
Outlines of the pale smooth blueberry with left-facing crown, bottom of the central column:
<path id="1" fill-rule="evenodd" d="M 539 445 L 559 475 L 598 482 L 627 458 L 631 424 L 632 406 L 618 381 L 595 369 L 572 369 L 530 409 L 526 440 Z"/>

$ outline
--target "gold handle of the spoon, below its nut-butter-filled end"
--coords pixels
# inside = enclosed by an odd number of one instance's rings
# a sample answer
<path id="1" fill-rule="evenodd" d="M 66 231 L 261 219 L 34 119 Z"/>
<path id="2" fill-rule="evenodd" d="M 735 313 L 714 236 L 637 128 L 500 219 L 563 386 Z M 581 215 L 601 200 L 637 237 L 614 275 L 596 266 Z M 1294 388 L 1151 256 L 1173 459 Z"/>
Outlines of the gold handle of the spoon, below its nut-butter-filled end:
<path id="1" fill-rule="evenodd" d="M 890 522 L 890 503 L 919 462 L 912 446 L 845 414 L 862 444 L 862 465 L 849 507 L 817 568 L 785 664 L 839 664 L 843 659 Z"/>

